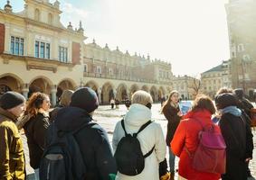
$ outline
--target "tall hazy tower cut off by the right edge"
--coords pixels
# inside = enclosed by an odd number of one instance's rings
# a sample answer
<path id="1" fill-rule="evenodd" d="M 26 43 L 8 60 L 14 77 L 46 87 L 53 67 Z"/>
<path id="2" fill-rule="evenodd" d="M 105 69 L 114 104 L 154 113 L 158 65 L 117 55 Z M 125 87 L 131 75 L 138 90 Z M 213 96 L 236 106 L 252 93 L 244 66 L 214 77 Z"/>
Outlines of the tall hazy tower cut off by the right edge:
<path id="1" fill-rule="evenodd" d="M 256 88 L 256 1 L 229 0 L 225 5 L 230 41 L 232 87 L 252 97 Z"/>

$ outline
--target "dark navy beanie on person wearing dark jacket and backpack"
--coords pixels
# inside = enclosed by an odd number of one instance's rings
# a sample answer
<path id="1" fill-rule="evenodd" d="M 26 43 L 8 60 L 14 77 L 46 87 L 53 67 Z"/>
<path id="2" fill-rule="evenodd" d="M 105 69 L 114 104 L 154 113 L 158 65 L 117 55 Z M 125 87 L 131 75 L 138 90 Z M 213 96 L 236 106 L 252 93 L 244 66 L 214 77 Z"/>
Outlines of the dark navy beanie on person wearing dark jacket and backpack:
<path id="1" fill-rule="evenodd" d="M 90 87 L 81 87 L 72 94 L 70 106 L 93 112 L 99 106 L 97 94 Z"/>

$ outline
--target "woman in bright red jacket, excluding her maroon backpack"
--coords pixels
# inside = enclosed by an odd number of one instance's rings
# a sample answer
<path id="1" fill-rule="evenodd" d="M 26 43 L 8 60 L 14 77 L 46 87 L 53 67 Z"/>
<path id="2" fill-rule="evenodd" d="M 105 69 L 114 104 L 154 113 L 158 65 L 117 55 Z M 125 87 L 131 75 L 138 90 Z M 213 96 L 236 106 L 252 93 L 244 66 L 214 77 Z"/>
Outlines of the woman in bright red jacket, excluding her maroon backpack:
<path id="1" fill-rule="evenodd" d="M 215 108 L 210 97 L 202 94 L 194 100 L 192 110 L 188 112 L 184 120 L 180 121 L 175 136 L 171 142 L 171 148 L 175 156 L 180 157 L 178 174 L 189 180 L 218 180 L 220 174 L 205 173 L 195 170 L 192 167 L 193 158 L 188 155 L 187 150 L 193 154 L 198 146 L 198 133 L 203 127 L 213 125 L 214 130 L 220 133 L 220 128 L 211 120 Z"/>

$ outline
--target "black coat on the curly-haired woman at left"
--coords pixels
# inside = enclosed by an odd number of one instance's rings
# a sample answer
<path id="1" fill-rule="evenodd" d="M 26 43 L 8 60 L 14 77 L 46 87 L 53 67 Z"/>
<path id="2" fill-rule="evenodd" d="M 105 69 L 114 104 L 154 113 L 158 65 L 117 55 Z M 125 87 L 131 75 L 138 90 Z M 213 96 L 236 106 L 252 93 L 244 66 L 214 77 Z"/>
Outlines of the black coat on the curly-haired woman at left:
<path id="1" fill-rule="evenodd" d="M 24 132 L 29 148 L 30 166 L 37 169 L 40 166 L 41 157 L 45 145 L 46 130 L 50 125 L 49 116 L 38 112 L 24 124 Z"/>

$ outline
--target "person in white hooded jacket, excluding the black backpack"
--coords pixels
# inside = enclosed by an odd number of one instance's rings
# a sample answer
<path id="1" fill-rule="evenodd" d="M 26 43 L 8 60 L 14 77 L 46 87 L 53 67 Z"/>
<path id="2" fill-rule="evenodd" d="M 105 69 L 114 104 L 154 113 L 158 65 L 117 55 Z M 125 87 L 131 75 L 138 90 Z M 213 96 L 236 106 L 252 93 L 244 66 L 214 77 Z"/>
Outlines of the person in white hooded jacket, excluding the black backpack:
<path id="1" fill-rule="evenodd" d="M 166 143 L 161 126 L 151 121 L 152 97 L 147 92 L 139 90 L 132 95 L 131 103 L 124 120 L 119 121 L 116 125 L 113 133 L 112 147 L 114 152 L 116 152 L 120 139 L 125 137 L 125 130 L 128 134 L 134 134 L 144 124 L 147 124 L 147 127 L 137 134 L 137 139 L 142 154 L 144 156 L 147 154 L 148 156 L 144 159 L 145 167 L 141 173 L 137 175 L 124 175 L 118 172 L 117 179 L 159 180 L 158 166 L 166 157 Z M 148 121 L 151 122 L 148 124 Z"/>

